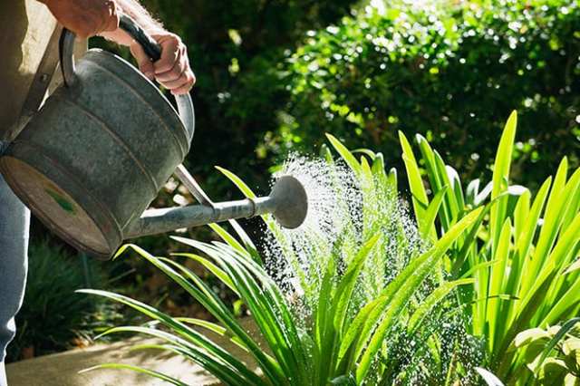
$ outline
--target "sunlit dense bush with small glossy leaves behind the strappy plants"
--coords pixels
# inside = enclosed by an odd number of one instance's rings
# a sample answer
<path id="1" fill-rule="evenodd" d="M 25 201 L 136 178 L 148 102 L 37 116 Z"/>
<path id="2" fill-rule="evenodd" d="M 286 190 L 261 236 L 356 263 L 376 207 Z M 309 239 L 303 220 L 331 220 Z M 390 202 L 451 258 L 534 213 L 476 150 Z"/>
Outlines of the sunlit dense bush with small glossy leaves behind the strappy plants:
<path id="1" fill-rule="evenodd" d="M 290 56 L 291 99 L 271 149 L 312 150 L 327 131 L 395 162 L 397 130 L 419 132 L 463 177 L 488 178 L 504 117 L 517 109 L 518 180 L 539 180 L 564 155 L 578 165 L 576 1 L 386 3 L 309 33 Z"/>

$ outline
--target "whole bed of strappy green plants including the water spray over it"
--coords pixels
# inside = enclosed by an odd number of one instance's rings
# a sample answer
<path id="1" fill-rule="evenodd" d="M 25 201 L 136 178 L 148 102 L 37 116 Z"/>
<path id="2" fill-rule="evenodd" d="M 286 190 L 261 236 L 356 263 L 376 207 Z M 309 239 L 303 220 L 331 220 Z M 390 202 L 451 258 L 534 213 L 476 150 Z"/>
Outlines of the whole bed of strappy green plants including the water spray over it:
<path id="1" fill-rule="evenodd" d="M 236 221 L 231 231 L 209 226 L 221 241 L 174 237 L 194 248 L 177 256 L 202 265 L 247 307 L 257 337 L 189 267 L 139 246 L 120 254 L 137 251 L 217 323 L 170 316 L 120 294 L 87 292 L 155 322 L 106 334 L 158 337 L 164 342 L 158 348 L 198 362 L 227 384 L 454 385 L 476 384 L 481 376 L 491 385 L 523 385 L 545 379 L 555 365 L 563 379 L 574 380 L 570 344 L 566 358 L 548 356 L 564 347 L 558 342 L 575 319 L 554 332 L 539 359 L 522 336 L 551 333 L 551 325 L 580 309 L 580 169 L 568 176 L 563 159 L 534 195 L 511 184 L 516 130 L 514 111 L 491 180 L 466 187 L 427 140 L 416 137 L 418 160 L 400 133 L 410 208 L 401 204 L 397 172 L 385 169 L 381 153 L 347 150 L 328 135 L 339 158 L 324 149 L 324 160 L 295 156 L 280 171 L 301 179 L 312 198 L 303 229 L 285 230 L 263 216 L 263 251 Z M 220 170 L 256 198 L 236 175 Z M 262 375 L 191 325 L 230 338 Z M 122 367 L 100 367 L 107 366 Z"/>

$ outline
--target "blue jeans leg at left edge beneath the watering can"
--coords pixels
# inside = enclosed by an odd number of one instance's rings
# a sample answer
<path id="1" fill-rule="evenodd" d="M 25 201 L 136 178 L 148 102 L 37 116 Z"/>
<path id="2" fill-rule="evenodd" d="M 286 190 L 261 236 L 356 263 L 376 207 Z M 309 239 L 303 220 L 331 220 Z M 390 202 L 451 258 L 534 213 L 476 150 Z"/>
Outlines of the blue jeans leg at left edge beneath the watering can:
<path id="1" fill-rule="evenodd" d="M 24 298 L 29 227 L 30 212 L 0 176 L 0 386 L 7 383 L 6 347 L 14 338 L 14 315 Z"/>

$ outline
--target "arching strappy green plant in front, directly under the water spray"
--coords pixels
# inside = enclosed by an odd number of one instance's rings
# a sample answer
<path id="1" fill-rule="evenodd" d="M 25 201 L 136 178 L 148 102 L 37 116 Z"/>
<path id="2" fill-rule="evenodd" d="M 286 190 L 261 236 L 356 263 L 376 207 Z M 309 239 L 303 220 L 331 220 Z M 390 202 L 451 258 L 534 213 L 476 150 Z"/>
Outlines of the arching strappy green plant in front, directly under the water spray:
<path id="1" fill-rule="evenodd" d="M 357 209 L 362 211 L 362 219 L 347 220 L 331 245 L 328 240 L 306 232 L 305 243 L 312 246 L 314 255 L 308 256 L 312 260 L 304 265 L 297 260 L 300 256 L 295 256 L 291 236 L 271 217 L 264 217 L 279 243 L 278 257 L 301 277 L 303 307 L 288 300 L 280 284 L 267 275 L 256 246 L 236 222 L 230 224 L 237 237 L 223 227 L 210 226 L 221 237 L 221 242 L 208 244 L 174 237 L 203 253 L 203 256 L 194 253 L 179 256 L 203 265 L 244 302 L 260 339 L 266 343 L 266 350 L 198 275 L 175 260 L 152 256 L 134 245 L 121 248 L 118 256 L 128 248 L 138 252 L 203 304 L 218 322 L 172 317 L 121 294 L 82 291 L 127 304 L 155 322 L 146 326 L 114 327 L 105 334 L 133 332 L 160 338 L 163 343 L 142 348 L 177 352 L 198 362 L 224 383 L 234 385 L 326 385 L 329 382 L 350 385 L 363 381 L 452 384 L 459 377 L 468 376 L 473 363 L 469 362 L 472 360 L 469 352 L 463 350 L 466 343 L 460 342 L 457 334 L 446 331 L 442 322 L 453 321 L 449 314 L 453 314 L 454 304 L 457 305 L 452 299 L 450 304 L 446 301 L 448 294 L 472 280 L 443 280 L 440 261 L 449 246 L 480 216 L 482 209 L 466 214 L 429 248 L 406 247 L 405 243 L 411 240 L 401 217 L 396 212 L 382 213 L 381 210 L 384 208 L 381 205 L 396 198 L 395 175 L 385 172 L 380 156 L 368 153 L 373 159 L 369 164 L 366 156 L 356 159 L 340 142 L 332 137 L 329 140 L 360 182 L 362 207 Z M 327 155 L 333 165 L 333 159 Z M 235 175 L 222 171 L 247 197 L 255 196 Z M 390 245 L 403 251 L 389 252 Z M 393 275 L 385 275 L 394 266 L 389 265 L 392 259 L 402 261 L 394 268 Z M 320 264 L 322 275 L 313 275 L 314 265 Z M 192 325 L 230 337 L 252 355 L 263 375 L 257 376 Z M 96 368 L 103 367 L 131 368 L 182 384 L 168 375 L 122 364 L 106 363 Z"/>

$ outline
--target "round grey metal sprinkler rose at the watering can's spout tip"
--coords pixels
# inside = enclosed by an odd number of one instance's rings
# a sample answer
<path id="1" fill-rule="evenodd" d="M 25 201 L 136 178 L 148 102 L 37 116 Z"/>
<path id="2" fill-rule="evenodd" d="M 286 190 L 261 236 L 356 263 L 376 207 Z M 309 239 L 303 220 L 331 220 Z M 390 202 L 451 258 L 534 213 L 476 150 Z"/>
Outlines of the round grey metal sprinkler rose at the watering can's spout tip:
<path id="1" fill-rule="evenodd" d="M 308 197 L 302 183 L 292 176 L 284 176 L 275 182 L 270 193 L 275 202 L 272 212 L 282 227 L 300 227 L 308 213 Z"/>

